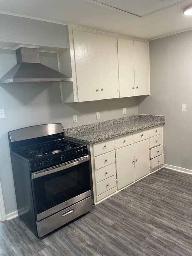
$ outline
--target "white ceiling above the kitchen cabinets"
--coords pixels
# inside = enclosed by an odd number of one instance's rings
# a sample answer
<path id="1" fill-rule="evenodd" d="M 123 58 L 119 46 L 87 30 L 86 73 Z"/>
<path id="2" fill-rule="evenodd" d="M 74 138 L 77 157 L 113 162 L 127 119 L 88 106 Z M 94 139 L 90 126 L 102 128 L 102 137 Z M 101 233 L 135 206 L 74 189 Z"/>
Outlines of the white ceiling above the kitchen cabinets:
<path id="1" fill-rule="evenodd" d="M 183 15 L 184 8 L 192 5 L 192 0 L 177 0 L 179 3 L 175 5 L 174 0 L 103 0 L 102 2 L 110 2 L 114 5 L 116 3 L 117 6 L 126 8 L 125 11 L 133 11 L 138 15 L 158 11 L 145 17 L 137 17 L 93 0 L 1 0 L 0 13 L 70 23 L 146 39 L 192 29 L 192 17 Z M 171 6 L 164 8 L 168 5 Z M 163 9 L 159 10 L 159 8 Z"/>

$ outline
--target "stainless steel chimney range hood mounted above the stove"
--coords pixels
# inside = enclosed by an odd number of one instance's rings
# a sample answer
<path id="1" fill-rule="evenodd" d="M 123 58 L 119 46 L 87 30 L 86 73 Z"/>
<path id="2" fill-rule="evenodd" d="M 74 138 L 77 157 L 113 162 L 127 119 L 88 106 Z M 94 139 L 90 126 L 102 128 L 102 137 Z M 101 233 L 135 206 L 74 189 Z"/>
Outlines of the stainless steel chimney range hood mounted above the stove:
<path id="1" fill-rule="evenodd" d="M 39 63 L 37 48 L 16 50 L 17 65 L 0 79 L 0 83 L 67 82 L 73 78 Z"/>

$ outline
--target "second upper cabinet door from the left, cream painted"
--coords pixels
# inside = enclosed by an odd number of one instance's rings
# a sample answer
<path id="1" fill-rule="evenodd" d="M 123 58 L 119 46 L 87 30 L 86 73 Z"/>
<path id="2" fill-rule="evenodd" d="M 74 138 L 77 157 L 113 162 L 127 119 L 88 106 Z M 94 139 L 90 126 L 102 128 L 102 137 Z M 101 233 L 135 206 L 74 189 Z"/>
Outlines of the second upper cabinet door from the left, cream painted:
<path id="1" fill-rule="evenodd" d="M 117 38 L 97 35 L 101 99 L 119 98 Z"/>

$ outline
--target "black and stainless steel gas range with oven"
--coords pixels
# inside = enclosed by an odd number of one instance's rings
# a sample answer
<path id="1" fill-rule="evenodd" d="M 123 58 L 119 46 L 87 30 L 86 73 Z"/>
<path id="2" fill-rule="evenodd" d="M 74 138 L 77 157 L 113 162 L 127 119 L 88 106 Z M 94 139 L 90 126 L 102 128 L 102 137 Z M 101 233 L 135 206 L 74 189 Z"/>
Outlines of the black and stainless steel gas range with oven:
<path id="1" fill-rule="evenodd" d="M 87 146 L 64 140 L 61 124 L 8 132 L 18 214 L 44 236 L 91 210 Z"/>

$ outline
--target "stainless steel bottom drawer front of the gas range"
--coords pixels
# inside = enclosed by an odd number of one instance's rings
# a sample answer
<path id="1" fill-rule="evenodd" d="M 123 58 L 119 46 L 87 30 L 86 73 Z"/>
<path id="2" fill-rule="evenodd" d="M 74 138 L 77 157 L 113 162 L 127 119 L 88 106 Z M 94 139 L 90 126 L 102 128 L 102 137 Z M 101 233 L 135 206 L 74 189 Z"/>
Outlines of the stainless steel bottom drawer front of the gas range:
<path id="1" fill-rule="evenodd" d="M 72 206 L 47 217 L 42 221 L 37 221 L 38 236 L 42 237 L 67 222 L 79 217 L 80 215 L 90 211 L 92 208 L 91 197 L 88 197 Z"/>

